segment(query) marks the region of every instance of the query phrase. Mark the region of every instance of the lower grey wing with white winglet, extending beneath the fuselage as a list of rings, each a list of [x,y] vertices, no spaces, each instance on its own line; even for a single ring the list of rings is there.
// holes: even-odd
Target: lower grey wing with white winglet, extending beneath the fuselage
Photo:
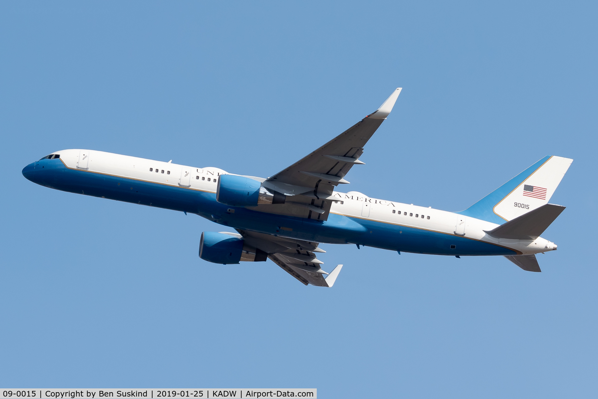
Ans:
[[[324,262],[319,260],[315,254],[316,252],[325,252],[318,248],[319,243],[248,230],[237,229],[237,231],[242,235],[245,243],[268,253],[272,262],[306,286],[312,284],[312,286],[332,287],[343,267],[343,265],[337,265],[330,274],[322,270],[320,266]]]

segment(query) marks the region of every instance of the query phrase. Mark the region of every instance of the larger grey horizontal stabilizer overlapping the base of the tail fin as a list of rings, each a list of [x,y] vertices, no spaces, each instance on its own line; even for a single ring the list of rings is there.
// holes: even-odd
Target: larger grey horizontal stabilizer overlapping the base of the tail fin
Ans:
[[[497,228],[486,231],[495,238],[508,238],[511,240],[535,240],[554,222],[561,212],[565,210],[562,205],[546,204],[529,211],[515,219],[509,220]],[[514,262],[514,261],[513,261]]]

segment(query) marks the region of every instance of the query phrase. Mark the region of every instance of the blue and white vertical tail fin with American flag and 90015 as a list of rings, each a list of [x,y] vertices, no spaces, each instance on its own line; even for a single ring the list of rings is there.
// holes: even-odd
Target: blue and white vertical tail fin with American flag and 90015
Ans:
[[[502,225],[548,204],[573,159],[545,156],[464,211],[456,212]]]

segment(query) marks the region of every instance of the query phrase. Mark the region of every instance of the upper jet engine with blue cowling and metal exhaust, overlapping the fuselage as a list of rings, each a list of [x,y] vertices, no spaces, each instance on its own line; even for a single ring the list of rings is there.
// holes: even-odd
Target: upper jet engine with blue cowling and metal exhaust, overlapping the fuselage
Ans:
[[[249,177],[221,174],[216,188],[216,201],[231,207],[255,207],[258,204],[284,204],[285,195],[270,192]]]

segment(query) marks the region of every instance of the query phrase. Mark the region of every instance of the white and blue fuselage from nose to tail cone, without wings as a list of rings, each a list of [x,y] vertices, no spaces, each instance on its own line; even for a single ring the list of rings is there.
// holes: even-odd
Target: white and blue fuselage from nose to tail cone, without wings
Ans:
[[[80,149],[52,155],[27,165],[23,176],[53,189],[194,213],[230,228],[276,237],[451,256],[512,256],[556,249],[541,237],[495,238],[487,232],[506,219],[495,219],[499,223],[494,223],[484,220],[490,218],[469,216],[468,211],[453,213],[370,198],[360,192],[334,191],[328,219],[306,219],[221,204],[216,201],[216,188],[219,177],[227,172],[219,168]],[[530,168],[537,170],[546,159]],[[531,173],[524,171],[512,185],[520,184]],[[517,208],[517,204],[515,201],[511,206]]]

